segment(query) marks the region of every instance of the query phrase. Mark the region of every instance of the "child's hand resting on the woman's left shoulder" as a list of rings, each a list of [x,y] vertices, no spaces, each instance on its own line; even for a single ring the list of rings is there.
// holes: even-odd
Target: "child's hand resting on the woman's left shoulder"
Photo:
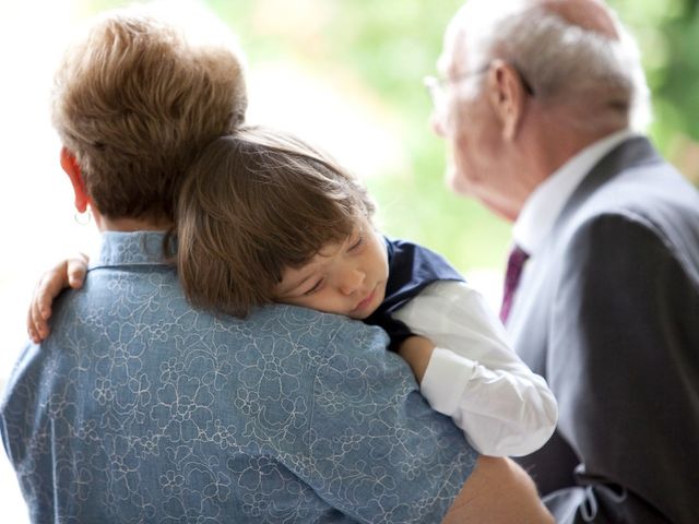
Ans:
[[[26,330],[29,338],[38,344],[48,336],[48,319],[51,317],[54,299],[67,287],[78,289],[82,287],[87,273],[88,258],[78,253],[76,257],[66,259],[51,270],[44,273],[34,288],[32,303],[26,317]]]

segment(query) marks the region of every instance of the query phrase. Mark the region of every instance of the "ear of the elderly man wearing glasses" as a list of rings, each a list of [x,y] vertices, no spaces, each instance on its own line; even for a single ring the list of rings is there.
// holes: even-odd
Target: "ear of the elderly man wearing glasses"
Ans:
[[[517,69],[500,59],[490,64],[488,87],[490,105],[502,127],[502,135],[506,140],[512,140],[524,114],[526,88]]]

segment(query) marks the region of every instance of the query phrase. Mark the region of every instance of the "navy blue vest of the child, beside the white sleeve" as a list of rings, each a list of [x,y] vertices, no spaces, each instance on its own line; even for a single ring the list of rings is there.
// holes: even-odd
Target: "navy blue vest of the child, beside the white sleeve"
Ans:
[[[390,314],[398,311],[425,287],[436,281],[464,278],[440,254],[404,240],[384,238],[389,253],[389,279],[381,306],[364,321],[379,325],[391,337],[389,349],[396,350],[401,342],[412,335],[407,326]]]

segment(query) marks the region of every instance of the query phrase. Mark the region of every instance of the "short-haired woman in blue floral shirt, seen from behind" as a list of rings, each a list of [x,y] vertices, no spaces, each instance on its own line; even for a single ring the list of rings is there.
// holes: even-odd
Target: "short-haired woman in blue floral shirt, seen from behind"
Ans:
[[[33,522],[548,522],[521,467],[478,456],[429,408],[381,330],[187,302],[174,200],[246,102],[236,52],[141,8],[67,52],[61,167],[103,243],[0,405]]]

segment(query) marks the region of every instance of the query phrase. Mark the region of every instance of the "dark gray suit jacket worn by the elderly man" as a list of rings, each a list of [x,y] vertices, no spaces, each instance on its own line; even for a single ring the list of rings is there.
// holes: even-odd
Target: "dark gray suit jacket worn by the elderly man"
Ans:
[[[558,428],[519,461],[559,523],[699,523],[699,194],[643,138],[528,262],[507,323]]]

